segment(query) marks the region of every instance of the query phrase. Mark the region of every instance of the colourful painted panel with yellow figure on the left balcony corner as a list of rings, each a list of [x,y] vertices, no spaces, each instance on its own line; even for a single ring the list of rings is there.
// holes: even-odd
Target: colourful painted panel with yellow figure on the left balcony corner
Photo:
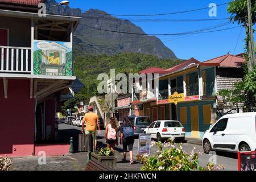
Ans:
[[[72,43],[34,40],[34,75],[72,76]]]

